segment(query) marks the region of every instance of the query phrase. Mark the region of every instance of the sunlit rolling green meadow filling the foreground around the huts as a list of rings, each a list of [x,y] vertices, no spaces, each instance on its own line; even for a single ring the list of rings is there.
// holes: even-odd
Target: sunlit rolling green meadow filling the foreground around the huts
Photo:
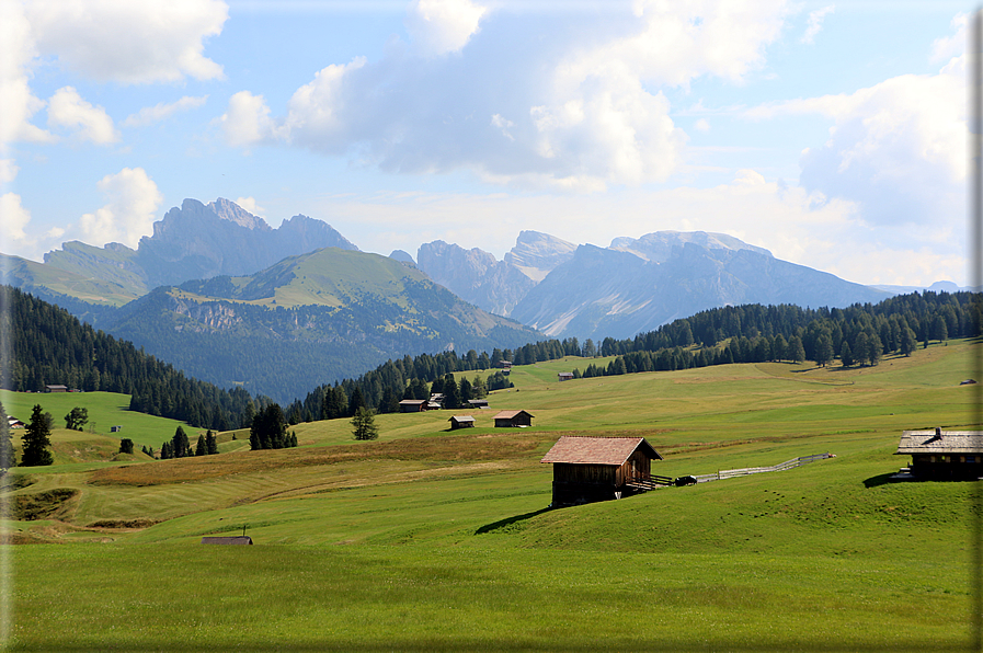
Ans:
[[[981,428],[979,348],[560,383],[599,363],[570,358],[515,368],[472,429],[434,411],[368,443],[335,420],[272,452],[239,432],[201,459],[56,456],[3,494],[0,626],[12,651],[969,650],[979,483],[889,477],[903,429]],[[504,409],[533,426],[493,428]],[[835,458],[549,509],[564,434],[643,436],[668,477]]]

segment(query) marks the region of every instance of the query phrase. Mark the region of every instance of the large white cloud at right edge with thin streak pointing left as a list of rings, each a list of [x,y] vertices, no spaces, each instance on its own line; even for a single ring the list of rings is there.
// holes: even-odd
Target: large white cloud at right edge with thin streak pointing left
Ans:
[[[802,154],[803,186],[859,203],[871,224],[931,221],[951,230],[964,219],[967,101],[960,68],[759,106],[746,115],[832,118],[830,139]]]

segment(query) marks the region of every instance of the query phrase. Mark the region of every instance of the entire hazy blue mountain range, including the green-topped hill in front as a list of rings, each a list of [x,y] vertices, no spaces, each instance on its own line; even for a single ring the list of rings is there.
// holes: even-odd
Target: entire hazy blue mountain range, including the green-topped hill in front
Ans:
[[[44,263],[0,256],[3,283],[202,380],[281,401],[407,354],[624,339],[725,305],[845,307],[902,291],[701,231],[607,248],[522,231],[501,261],[438,240],[414,262],[363,253],[302,215],[273,229],[222,198],[185,199],[136,250],[73,241]]]

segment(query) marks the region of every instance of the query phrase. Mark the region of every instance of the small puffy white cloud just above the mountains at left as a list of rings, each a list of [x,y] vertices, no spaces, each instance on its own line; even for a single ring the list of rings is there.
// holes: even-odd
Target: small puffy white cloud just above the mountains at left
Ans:
[[[78,228],[90,244],[122,242],[136,248],[153,232],[153,220],[163,196],[142,168],[124,168],[96,184],[106,204],[79,218]]]

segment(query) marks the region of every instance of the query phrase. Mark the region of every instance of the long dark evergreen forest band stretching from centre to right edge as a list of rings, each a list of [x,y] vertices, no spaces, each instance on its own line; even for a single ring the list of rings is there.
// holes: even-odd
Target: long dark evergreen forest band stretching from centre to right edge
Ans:
[[[441,381],[453,373],[484,371],[503,360],[529,365],[563,356],[616,358],[607,365],[587,365],[574,378],[675,370],[729,363],[766,360],[815,360],[826,365],[841,357],[845,365],[877,365],[892,353],[910,355],[918,342],[967,337],[981,332],[980,295],[971,293],[914,293],[885,299],[877,305],[848,308],[800,308],[791,305],[744,305],[701,311],[675,320],[633,339],[605,337],[599,343],[576,337],[544,340],[516,350],[495,348],[491,355],[471,350],[403,356],[388,360],[357,379],[325,385],[297,400],[287,409],[289,422],[352,417],[365,406],[377,412],[398,411],[400,399],[427,399],[441,392]],[[450,377],[453,379],[453,377]],[[485,390],[511,386],[496,370],[487,379]],[[430,387],[436,383],[437,389]],[[458,389],[459,390],[459,389]],[[445,406],[457,408],[446,402]],[[460,400],[458,405],[466,404]]]

